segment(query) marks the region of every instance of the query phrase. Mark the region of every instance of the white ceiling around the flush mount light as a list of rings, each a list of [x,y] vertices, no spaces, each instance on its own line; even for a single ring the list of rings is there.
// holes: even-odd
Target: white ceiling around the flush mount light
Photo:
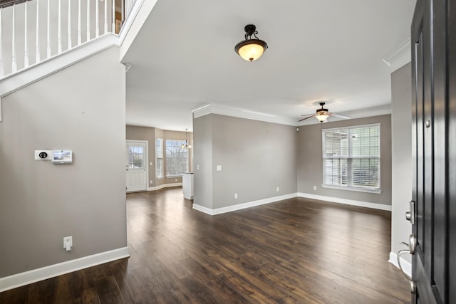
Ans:
[[[415,0],[158,0],[123,63],[127,124],[192,130],[207,104],[297,121],[319,100],[351,115],[388,108],[382,58],[410,36]],[[234,46],[257,26],[269,48],[244,61]],[[315,120],[316,121],[316,120]]]

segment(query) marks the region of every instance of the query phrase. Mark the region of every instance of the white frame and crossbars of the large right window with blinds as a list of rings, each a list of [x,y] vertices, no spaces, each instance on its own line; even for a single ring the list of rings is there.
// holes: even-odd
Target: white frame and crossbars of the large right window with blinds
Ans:
[[[359,128],[364,128],[364,127],[378,127],[378,156],[368,156],[368,157],[353,157],[352,155],[352,142],[351,140],[348,140],[348,154],[347,156],[338,156],[338,157],[330,157],[326,155],[326,142],[325,142],[325,133],[326,132],[331,132],[331,131],[348,131],[348,134],[351,134],[351,130],[353,129],[359,129]],[[381,152],[381,128],[380,128],[380,123],[375,123],[375,124],[369,124],[369,125],[354,125],[350,127],[333,127],[330,129],[323,129],[321,130],[321,155],[322,155],[322,167],[321,167],[321,172],[322,172],[322,183],[321,187],[323,188],[330,188],[330,189],[342,189],[342,190],[349,190],[349,191],[356,191],[356,192],[369,192],[369,193],[375,193],[379,194],[381,193],[381,188],[380,188],[380,152]],[[368,159],[378,159],[378,187],[356,187],[351,184],[351,175],[352,175],[352,167],[351,167],[351,160],[352,159],[360,159],[360,158],[368,158]],[[341,185],[331,185],[331,184],[325,184],[325,161],[326,159],[347,159],[347,185],[346,186],[341,186]]]

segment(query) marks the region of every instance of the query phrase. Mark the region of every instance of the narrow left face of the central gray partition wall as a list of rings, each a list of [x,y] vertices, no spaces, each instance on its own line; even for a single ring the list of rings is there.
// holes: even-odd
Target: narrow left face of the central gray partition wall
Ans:
[[[193,119],[193,203],[214,209],[212,181],[212,115]]]

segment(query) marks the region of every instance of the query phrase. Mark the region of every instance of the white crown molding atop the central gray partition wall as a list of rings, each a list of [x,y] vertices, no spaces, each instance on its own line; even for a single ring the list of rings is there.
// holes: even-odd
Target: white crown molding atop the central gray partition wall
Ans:
[[[271,115],[252,110],[233,108],[227,105],[209,104],[204,105],[201,108],[192,110],[193,118],[202,117],[208,114],[219,114],[232,117],[246,118],[248,120],[260,120],[264,122],[273,122],[280,125],[292,125],[296,126],[296,120],[289,117],[283,117],[278,115]]]

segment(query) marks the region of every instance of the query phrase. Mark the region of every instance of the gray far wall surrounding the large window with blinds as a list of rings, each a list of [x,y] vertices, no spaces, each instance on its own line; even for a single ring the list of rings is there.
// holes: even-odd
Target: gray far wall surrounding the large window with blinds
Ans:
[[[348,190],[328,189],[322,184],[322,152],[321,129],[346,127],[351,125],[367,125],[380,123],[380,194],[354,192]],[[326,122],[318,125],[299,127],[298,147],[298,192],[322,196],[366,201],[374,204],[391,204],[391,116],[380,115]],[[314,191],[314,186],[317,190]]]

